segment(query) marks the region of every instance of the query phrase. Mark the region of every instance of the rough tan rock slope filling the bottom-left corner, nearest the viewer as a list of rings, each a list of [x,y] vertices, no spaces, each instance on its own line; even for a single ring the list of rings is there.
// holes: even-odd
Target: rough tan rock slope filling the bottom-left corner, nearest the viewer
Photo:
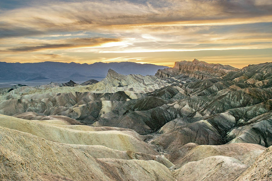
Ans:
[[[0,126],[3,181],[175,180],[167,167],[154,160],[96,159],[92,153],[92,148],[83,151],[80,145],[56,143]]]

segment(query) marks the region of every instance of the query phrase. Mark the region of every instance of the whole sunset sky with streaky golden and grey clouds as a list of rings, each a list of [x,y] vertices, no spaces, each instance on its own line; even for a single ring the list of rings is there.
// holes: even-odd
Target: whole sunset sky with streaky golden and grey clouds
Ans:
[[[272,62],[271,0],[1,0],[1,62]]]

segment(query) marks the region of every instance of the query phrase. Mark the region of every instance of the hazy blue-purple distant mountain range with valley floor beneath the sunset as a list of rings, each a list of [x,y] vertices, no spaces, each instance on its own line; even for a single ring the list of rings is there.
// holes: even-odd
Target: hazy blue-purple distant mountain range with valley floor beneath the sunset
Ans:
[[[39,63],[7,63],[0,62],[0,81],[54,81],[66,82],[102,80],[108,69],[113,69],[123,75],[141,74],[154,75],[158,69],[166,66],[139,64],[135,62],[96,62],[93,64],[39,62]]]

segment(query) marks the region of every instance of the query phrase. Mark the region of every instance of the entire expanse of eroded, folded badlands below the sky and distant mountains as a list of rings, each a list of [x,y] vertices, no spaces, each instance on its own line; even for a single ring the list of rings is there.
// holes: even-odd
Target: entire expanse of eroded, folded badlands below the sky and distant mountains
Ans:
[[[0,180],[272,180],[271,62],[0,95]]]

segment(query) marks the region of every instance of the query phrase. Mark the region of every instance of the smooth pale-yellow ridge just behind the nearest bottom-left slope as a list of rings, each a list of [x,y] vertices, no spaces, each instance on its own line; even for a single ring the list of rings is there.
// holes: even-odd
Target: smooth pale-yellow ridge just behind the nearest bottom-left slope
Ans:
[[[143,141],[144,138],[132,130],[82,131],[50,123],[54,120],[50,120],[50,122],[47,120],[49,123],[40,123],[40,121],[28,121],[1,115],[0,119],[0,126],[31,133],[50,141],[67,144],[103,145],[120,151],[131,150],[148,154],[158,153],[153,145],[145,143]]]

